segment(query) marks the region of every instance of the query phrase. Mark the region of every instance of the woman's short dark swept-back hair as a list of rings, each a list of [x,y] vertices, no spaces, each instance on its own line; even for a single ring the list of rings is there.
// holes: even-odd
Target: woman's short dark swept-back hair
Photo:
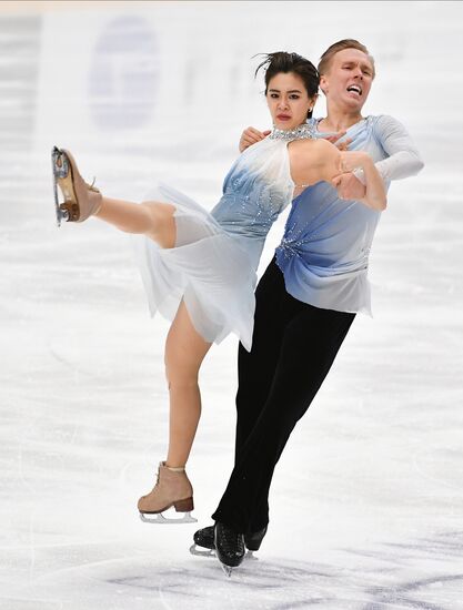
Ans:
[[[254,77],[259,70],[264,70],[265,79],[265,95],[269,89],[269,82],[280,72],[293,72],[304,83],[309,98],[313,98],[319,92],[320,74],[311,61],[298,55],[298,53],[286,53],[285,51],[276,51],[275,53],[264,54],[264,60],[255,70]],[[312,116],[312,112],[308,113],[308,119]]]

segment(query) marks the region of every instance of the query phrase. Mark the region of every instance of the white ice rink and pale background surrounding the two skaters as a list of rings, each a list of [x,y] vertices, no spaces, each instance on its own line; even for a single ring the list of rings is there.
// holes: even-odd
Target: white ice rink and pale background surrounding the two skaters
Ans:
[[[462,4],[2,4],[0,609],[463,608]],[[259,561],[227,579],[189,555],[194,525],[138,518],[165,451],[167,323],[124,235],[56,227],[49,151],[108,194],[138,201],[161,176],[211,207],[241,130],[269,124],[251,55],[316,60],[345,37],[376,57],[366,113],[402,120],[426,167],[391,189],[374,319],[276,468]],[[200,527],[233,459],[235,349],[202,370]]]

